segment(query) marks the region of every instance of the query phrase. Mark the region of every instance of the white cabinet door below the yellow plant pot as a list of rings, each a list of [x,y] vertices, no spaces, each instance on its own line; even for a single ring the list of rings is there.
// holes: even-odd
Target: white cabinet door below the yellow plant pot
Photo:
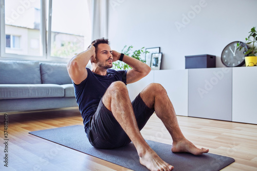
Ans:
[[[232,121],[257,124],[257,67],[233,68]]]

